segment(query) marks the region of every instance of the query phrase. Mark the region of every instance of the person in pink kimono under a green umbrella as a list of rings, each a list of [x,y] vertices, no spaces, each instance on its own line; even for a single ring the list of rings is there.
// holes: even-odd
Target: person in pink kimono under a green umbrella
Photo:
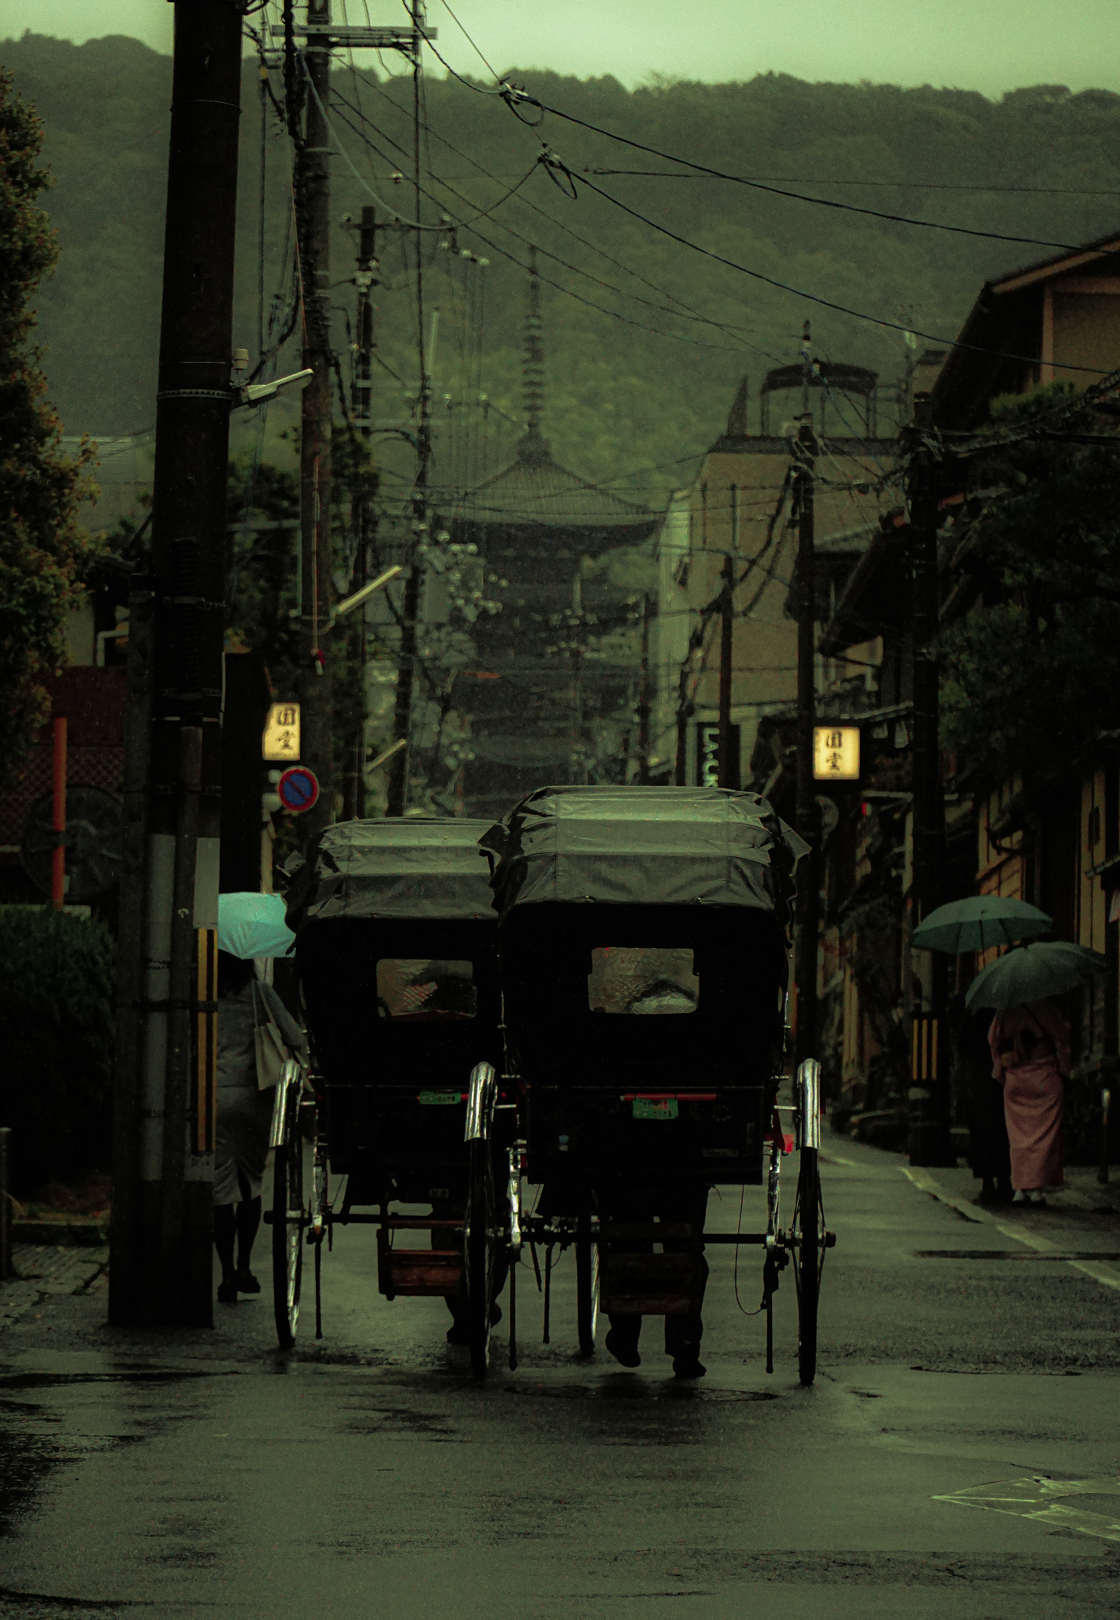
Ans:
[[[1063,1184],[1062,1081],[1070,1077],[1070,1025],[1052,1001],[997,1013],[987,1032],[992,1079],[1003,1087],[1015,1204],[1046,1204]]]

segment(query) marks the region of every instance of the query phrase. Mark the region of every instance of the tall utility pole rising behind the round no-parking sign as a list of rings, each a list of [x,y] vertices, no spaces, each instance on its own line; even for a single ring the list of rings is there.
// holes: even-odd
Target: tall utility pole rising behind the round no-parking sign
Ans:
[[[319,779],[304,812],[314,838],[333,821],[332,676],[324,642],[332,606],[330,541],[330,0],[308,0],[308,117],[296,170],[299,262],[304,296],[299,423],[299,729],[301,760]]]

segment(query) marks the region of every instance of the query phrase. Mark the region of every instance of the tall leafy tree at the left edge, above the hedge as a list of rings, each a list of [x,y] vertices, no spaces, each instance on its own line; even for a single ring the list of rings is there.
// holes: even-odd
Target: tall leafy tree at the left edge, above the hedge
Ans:
[[[78,525],[95,488],[92,446],[62,454],[31,298],[58,258],[36,167],[42,123],[0,68],[0,748],[19,755],[50,713],[44,680],[65,659],[66,611],[99,543]]]

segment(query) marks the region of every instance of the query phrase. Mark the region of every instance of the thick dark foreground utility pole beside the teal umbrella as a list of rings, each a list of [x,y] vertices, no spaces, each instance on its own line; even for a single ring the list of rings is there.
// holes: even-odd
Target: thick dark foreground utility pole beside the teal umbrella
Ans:
[[[152,590],[136,582],[129,633],[110,1267],[117,1325],[214,1322],[214,930],[240,96],[240,8],[178,0]]]

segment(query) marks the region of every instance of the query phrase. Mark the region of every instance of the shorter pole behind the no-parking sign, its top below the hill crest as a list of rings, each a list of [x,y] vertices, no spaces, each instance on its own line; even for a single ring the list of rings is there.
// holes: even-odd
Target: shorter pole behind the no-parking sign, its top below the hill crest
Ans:
[[[364,460],[354,468],[354,497],[351,502],[351,523],[356,531],[354,577],[351,590],[359,591],[369,580],[369,549],[372,544],[374,514],[369,502],[369,446],[372,441],[372,387],[374,387],[374,303],[371,288],[374,284],[375,259],[375,225],[377,219],[372,206],[361,211],[361,228],[358,232],[358,321],[356,321],[356,364],[353,415],[363,446]],[[346,739],[346,779],[343,787],[343,818],[353,821],[366,813],[366,612],[354,619],[350,653],[358,671],[358,716],[354,729]]]

